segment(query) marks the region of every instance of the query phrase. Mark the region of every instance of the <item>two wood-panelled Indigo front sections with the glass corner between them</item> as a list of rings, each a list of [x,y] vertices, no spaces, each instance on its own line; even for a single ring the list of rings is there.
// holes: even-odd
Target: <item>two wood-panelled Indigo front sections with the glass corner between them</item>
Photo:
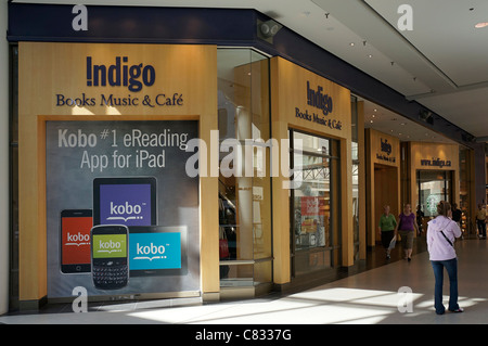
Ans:
[[[347,89],[216,46],[20,42],[18,72],[24,307],[255,296],[354,264]]]

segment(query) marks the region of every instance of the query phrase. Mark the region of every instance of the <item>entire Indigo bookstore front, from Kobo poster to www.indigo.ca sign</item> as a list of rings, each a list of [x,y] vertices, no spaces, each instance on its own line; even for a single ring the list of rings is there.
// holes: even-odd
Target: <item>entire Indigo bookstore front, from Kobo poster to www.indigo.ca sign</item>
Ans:
[[[69,7],[9,9],[15,23],[36,11],[72,16]],[[98,30],[11,30],[21,309],[70,302],[76,287],[92,300],[218,300],[307,286],[365,259],[384,204],[394,214],[426,204],[427,189],[459,200],[457,145],[364,132],[350,66],[288,29],[282,46],[256,38],[265,15],[151,9],[149,25],[147,9],[117,8],[130,21],[114,34],[104,9],[91,12]],[[189,30],[171,36],[177,18]],[[297,42],[304,51],[286,51]],[[426,177],[434,170],[442,187]],[[113,264],[117,280],[100,278]]]

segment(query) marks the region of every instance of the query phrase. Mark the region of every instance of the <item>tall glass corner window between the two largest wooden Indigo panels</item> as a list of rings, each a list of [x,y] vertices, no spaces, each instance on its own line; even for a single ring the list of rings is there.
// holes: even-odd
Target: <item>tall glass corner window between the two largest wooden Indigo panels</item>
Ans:
[[[272,282],[269,60],[252,49],[218,49],[219,239],[222,287]],[[244,159],[239,161],[241,151]],[[245,152],[253,153],[245,159]],[[234,161],[229,163],[229,155]],[[253,172],[252,177],[241,172]],[[252,167],[249,167],[252,166]]]

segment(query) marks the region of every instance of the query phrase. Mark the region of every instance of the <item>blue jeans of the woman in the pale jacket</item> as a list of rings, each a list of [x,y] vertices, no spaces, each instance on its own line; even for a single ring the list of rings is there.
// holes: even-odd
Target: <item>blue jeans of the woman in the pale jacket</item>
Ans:
[[[434,307],[436,313],[442,315],[446,308],[442,305],[442,285],[444,285],[444,268],[449,275],[449,310],[459,309],[458,305],[458,258],[448,260],[431,260],[436,278],[436,286],[434,293]]]

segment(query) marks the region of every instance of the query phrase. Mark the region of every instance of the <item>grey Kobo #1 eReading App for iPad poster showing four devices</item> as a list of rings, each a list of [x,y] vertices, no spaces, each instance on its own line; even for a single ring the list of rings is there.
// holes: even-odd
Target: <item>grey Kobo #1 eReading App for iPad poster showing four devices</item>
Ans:
[[[46,123],[48,298],[200,294],[197,137],[195,120]]]

